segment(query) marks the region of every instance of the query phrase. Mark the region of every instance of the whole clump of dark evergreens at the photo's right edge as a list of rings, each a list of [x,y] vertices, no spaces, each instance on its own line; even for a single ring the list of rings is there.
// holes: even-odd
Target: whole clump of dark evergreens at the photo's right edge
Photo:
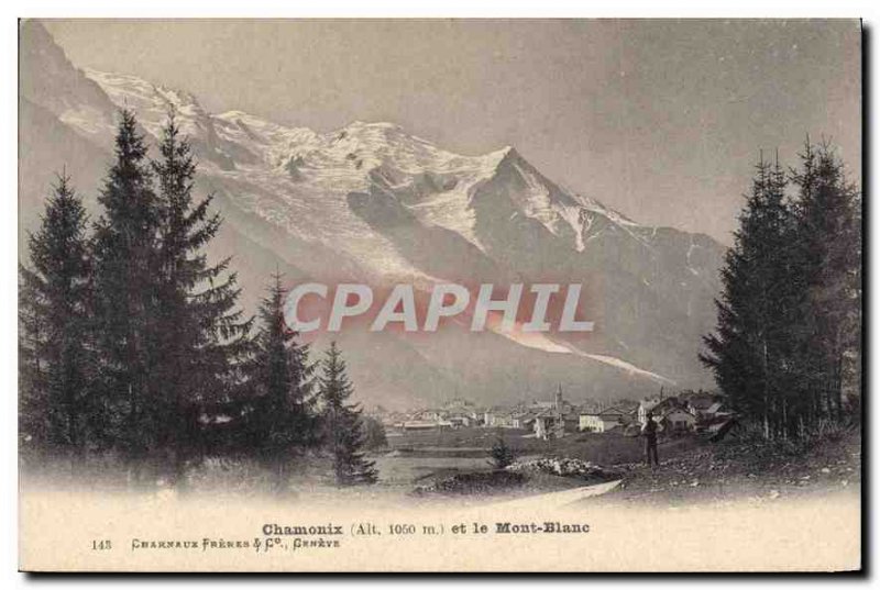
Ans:
[[[759,164],[701,355],[767,437],[839,419],[847,375],[860,388],[860,196],[831,148],[809,140],[790,177],[794,199],[779,164]]]

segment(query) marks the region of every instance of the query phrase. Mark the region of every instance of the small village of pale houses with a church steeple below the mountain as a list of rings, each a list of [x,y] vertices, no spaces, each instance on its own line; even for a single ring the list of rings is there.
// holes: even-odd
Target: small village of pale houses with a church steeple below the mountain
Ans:
[[[378,407],[370,413],[382,422],[389,436],[419,431],[505,428],[520,431],[524,438],[541,441],[578,433],[638,436],[649,413],[664,436],[717,434],[734,419],[724,396],[702,390],[670,394],[661,388],[657,396],[638,401],[584,399],[575,403],[564,398],[561,386],[549,400],[512,405],[481,408],[455,397],[439,408],[395,412]]]

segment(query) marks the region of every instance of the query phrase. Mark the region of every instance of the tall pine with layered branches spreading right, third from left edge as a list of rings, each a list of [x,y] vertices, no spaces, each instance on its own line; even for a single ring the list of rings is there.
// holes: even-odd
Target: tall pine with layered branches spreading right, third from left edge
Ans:
[[[168,113],[153,163],[158,186],[160,271],[151,410],[162,426],[160,444],[170,452],[182,482],[194,441],[186,416],[194,403],[228,400],[239,385],[251,320],[237,308],[240,289],[229,258],[210,265],[205,248],[221,225],[210,213],[213,197],[193,198],[196,164],[175,112]]]

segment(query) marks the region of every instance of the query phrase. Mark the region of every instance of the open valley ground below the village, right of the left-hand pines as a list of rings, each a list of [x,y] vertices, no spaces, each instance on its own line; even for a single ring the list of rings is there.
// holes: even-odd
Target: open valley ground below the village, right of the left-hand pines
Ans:
[[[835,492],[857,497],[860,492],[861,432],[857,428],[799,444],[734,435],[710,443],[682,436],[660,442],[661,463],[653,469],[644,461],[642,438],[613,433],[572,434],[557,441],[528,438],[520,431],[509,430],[407,433],[389,437],[393,450],[378,457],[383,480],[430,486],[433,481],[488,471],[487,449],[499,436],[515,449],[519,461],[539,457],[588,461],[606,471],[608,479],[620,480],[613,491],[584,500],[591,505],[771,502]],[[593,482],[544,474],[530,478],[521,492],[550,493]],[[457,498],[463,496],[466,493]]]

